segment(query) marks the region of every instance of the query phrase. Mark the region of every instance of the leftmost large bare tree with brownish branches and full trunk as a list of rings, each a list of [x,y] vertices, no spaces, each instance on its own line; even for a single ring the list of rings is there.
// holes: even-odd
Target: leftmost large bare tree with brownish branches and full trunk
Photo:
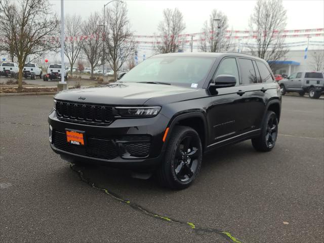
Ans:
[[[50,41],[47,36],[58,32],[58,25],[48,0],[21,0],[18,5],[13,1],[0,0],[0,36],[4,39],[0,42],[0,50],[18,59],[19,89],[22,88],[22,70],[27,56],[43,55],[57,48],[56,39]],[[11,31],[10,37],[6,28]]]

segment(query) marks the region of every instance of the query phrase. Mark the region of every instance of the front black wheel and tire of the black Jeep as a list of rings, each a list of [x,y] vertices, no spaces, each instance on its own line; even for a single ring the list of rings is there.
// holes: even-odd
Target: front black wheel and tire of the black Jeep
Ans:
[[[198,133],[189,127],[176,126],[170,134],[165,159],[157,170],[160,185],[184,189],[197,177],[203,148]]]

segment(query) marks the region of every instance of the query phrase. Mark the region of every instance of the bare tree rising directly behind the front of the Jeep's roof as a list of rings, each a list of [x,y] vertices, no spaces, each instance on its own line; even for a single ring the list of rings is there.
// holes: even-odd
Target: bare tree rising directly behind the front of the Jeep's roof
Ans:
[[[179,36],[186,28],[182,13],[175,8],[163,10],[163,21],[158,25],[158,32],[162,36],[158,39],[155,51],[158,53],[178,52],[182,39]]]

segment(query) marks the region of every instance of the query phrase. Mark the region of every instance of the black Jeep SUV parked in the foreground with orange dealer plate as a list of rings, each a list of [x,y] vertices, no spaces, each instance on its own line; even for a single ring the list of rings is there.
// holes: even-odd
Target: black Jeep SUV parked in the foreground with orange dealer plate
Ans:
[[[161,54],[115,83],[58,93],[49,136],[72,163],[150,170],[181,189],[197,177],[208,150],[247,139],[271,150],[280,110],[280,88],[260,58]]]

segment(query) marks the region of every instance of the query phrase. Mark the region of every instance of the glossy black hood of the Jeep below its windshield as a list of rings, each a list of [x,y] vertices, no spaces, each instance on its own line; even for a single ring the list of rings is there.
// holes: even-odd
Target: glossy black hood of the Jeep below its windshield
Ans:
[[[172,102],[166,98],[183,97],[182,94],[185,93],[197,93],[197,90],[173,85],[112,83],[98,87],[62,91],[56,94],[54,98],[82,103],[143,105],[154,98],[163,98],[162,100]],[[185,96],[188,98],[187,95]],[[198,94],[193,96],[198,96]]]

